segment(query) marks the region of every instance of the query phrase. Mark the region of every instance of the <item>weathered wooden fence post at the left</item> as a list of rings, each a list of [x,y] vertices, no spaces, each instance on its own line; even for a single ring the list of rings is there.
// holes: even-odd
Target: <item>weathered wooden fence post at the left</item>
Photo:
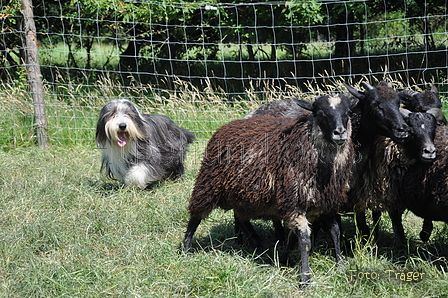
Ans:
[[[34,23],[31,0],[22,0],[22,14],[25,35],[25,65],[33,96],[37,142],[39,147],[44,148],[48,146],[48,124],[45,114],[42,74],[37,53],[36,24]]]

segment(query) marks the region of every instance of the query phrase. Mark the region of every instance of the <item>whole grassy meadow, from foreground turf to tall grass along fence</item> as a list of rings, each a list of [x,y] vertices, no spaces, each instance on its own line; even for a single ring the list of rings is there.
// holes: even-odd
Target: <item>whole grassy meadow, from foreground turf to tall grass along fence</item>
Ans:
[[[181,83],[179,83],[181,84]],[[110,84],[105,84],[110,85]],[[215,210],[181,251],[186,210],[205,144],[222,124],[262,103],[254,94],[226,104],[188,84],[179,94],[145,97],[129,91],[144,112],[165,114],[196,132],[186,173],[140,190],[100,173],[94,142],[100,107],[130,93],[66,89],[47,100],[50,147],[32,137],[29,94],[3,86],[0,97],[0,297],[446,297],[448,231],[436,223],[428,243],[422,220],[404,215],[405,257],[383,215],[379,239],[361,239],[343,216],[344,267],[337,267],[325,233],[314,239],[312,284],[300,287],[299,255],[279,264],[282,244],[270,223],[256,221],[264,251],[235,239],[233,214]],[[202,90],[201,90],[202,91]],[[273,90],[263,100],[279,95]],[[319,92],[320,90],[311,90]],[[139,93],[141,92],[141,93]],[[145,92],[148,92],[146,90]],[[287,97],[299,92],[285,91]],[[57,94],[57,95],[56,95]]]

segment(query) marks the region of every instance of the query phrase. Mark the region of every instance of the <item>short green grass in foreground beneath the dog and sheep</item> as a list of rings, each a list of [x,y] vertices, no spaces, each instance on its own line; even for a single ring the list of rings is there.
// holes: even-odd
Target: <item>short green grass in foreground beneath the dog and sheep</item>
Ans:
[[[186,174],[152,189],[122,188],[99,173],[86,147],[18,148],[0,153],[0,297],[443,297],[448,237],[417,239],[421,220],[407,214],[411,257],[400,257],[384,217],[378,247],[363,244],[344,218],[345,262],[338,268],[322,234],[310,258],[312,285],[299,287],[299,265],[281,267],[273,231],[256,222],[267,251],[253,256],[234,238],[231,212],[216,210],[180,243],[204,144],[195,143]],[[298,254],[291,258],[298,260]],[[360,272],[376,274],[375,280]],[[423,274],[402,281],[395,273]],[[353,274],[356,273],[356,276]],[[391,275],[390,275],[390,274]]]

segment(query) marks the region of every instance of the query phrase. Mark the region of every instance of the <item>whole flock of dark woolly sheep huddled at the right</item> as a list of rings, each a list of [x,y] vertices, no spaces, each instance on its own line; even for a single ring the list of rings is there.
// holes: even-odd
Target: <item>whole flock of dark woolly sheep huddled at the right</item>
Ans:
[[[310,224],[330,231],[342,263],[340,213],[356,212],[360,231],[369,234],[366,210],[375,220],[387,211],[403,244],[406,209],[424,218],[424,241],[433,220],[448,222],[448,131],[437,90],[361,85],[345,84],[349,93],[314,102],[275,101],[218,129],[189,202],[184,250],[212,210],[233,209],[235,231],[254,249],[262,240],[250,220],[273,221],[279,239],[284,224],[281,260],[298,243],[307,283]]]

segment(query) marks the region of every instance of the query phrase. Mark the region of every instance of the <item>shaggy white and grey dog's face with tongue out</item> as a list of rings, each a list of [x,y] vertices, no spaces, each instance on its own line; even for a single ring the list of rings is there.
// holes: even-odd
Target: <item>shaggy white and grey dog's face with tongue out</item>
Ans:
[[[96,140],[99,146],[109,140],[112,145],[125,147],[131,141],[143,138],[144,132],[140,129],[143,126],[143,117],[132,102],[113,100],[100,112]]]

